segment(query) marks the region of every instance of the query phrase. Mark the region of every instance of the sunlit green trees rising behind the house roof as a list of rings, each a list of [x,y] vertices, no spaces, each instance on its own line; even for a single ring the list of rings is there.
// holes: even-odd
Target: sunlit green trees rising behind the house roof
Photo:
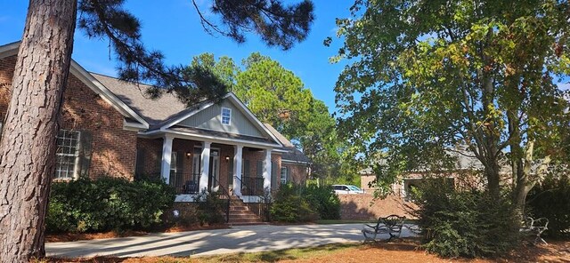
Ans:
[[[346,145],[338,139],[336,122],[324,102],[314,99],[293,72],[259,52],[251,53],[241,65],[203,53],[194,57],[191,68],[213,72],[262,122],[296,142],[311,158],[314,178],[335,181],[345,176],[352,181],[356,166],[346,163]]]

